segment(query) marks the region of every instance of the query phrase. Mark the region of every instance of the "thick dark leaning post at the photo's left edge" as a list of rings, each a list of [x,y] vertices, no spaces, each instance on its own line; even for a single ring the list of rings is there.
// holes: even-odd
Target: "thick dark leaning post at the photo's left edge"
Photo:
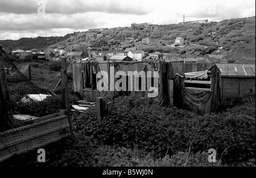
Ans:
[[[0,45],[0,128],[9,129],[13,124],[9,86],[6,80],[5,66],[3,63],[2,47]],[[1,130],[1,129],[0,129]]]

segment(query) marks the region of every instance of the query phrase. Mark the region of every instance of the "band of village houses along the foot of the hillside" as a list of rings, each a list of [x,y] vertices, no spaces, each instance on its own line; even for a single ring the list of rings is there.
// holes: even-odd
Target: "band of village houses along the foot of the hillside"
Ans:
[[[113,59],[113,60],[164,60],[167,62],[177,63],[197,63],[197,64],[255,64],[255,57],[237,60],[234,55],[204,55],[203,57],[195,55],[180,55],[179,53],[148,53],[137,48],[126,48],[124,51],[81,51],[81,52],[66,52],[64,49],[55,49],[49,52],[32,52],[16,50],[11,52],[13,55],[19,56],[19,59],[46,59],[55,60],[60,56],[66,56],[69,59],[96,59],[98,61]],[[123,57],[119,57],[123,56]],[[128,56],[128,57],[125,57]]]

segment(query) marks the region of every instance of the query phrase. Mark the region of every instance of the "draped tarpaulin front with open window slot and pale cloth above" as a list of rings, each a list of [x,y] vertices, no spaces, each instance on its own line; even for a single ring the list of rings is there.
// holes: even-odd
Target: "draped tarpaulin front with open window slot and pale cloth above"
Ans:
[[[190,80],[192,78],[194,80]],[[197,78],[209,78],[209,80],[195,80]],[[186,81],[189,82],[190,87],[186,87]],[[216,65],[207,71],[177,74],[175,85],[182,91],[180,92],[181,107],[199,114],[211,113],[216,110],[220,101],[220,82],[221,72]],[[204,88],[203,85],[210,86]]]

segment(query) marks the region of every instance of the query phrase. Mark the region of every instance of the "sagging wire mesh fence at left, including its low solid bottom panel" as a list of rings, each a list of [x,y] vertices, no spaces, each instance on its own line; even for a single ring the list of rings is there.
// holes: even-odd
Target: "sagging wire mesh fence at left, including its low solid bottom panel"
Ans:
[[[0,126],[1,163],[14,155],[56,142],[71,134],[72,129],[68,113],[60,111],[64,109],[63,98],[57,95],[61,93],[61,72],[41,70],[41,73],[35,66],[31,67],[31,64],[15,64],[1,46],[0,50],[9,88],[12,119],[15,121],[6,122],[11,129],[2,130]],[[43,65],[46,67],[47,64]],[[68,77],[72,77],[71,65],[68,65],[67,73]],[[54,102],[43,103],[51,100]],[[31,113],[22,114],[24,111]],[[44,117],[40,116],[42,111]]]

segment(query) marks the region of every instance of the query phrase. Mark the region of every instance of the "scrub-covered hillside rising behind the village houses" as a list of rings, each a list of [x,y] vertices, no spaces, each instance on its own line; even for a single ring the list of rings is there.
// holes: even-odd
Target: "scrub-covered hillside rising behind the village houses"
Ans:
[[[209,32],[213,34],[208,34]],[[103,30],[101,34],[104,36],[97,38],[97,33],[74,32],[63,37],[0,40],[0,44],[6,49],[83,50],[93,47],[96,50],[122,50],[135,46],[146,52],[180,52],[181,50],[168,45],[174,43],[177,36],[181,36],[185,40],[184,50],[187,53],[197,55],[234,53],[237,57],[255,57],[255,16],[222,20],[218,23],[167,24],[147,27],[143,30],[118,27]],[[143,38],[150,39],[150,44],[141,44],[139,41]],[[133,39],[138,40],[134,42]]]

